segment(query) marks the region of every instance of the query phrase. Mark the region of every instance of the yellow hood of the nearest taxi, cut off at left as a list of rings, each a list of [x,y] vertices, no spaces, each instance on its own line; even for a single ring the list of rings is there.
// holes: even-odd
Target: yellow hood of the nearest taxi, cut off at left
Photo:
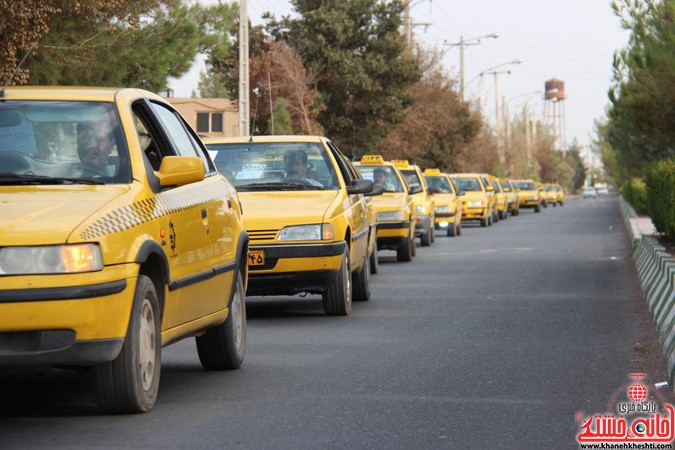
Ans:
[[[126,185],[0,188],[0,246],[63,244]]]

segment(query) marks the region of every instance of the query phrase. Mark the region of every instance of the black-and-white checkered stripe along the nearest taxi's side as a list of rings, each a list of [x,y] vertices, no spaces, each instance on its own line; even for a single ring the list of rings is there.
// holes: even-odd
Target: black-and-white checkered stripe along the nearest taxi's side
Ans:
[[[198,208],[213,200],[223,198],[227,192],[229,192],[227,183],[221,179],[206,184],[199,183],[197,186],[160,192],[154,197],[109,212],[80,233],[80,238],[94,240],[128,230],[168,214]]]

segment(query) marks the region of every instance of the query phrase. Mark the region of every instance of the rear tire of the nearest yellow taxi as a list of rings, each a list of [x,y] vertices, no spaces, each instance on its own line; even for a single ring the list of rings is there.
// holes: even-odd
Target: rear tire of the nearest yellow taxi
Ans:
[[[238,369],[246,350],[246,305],[244,279],[237,273],[237,283],[227,320],[197,336],[197,353],[206,370]]]

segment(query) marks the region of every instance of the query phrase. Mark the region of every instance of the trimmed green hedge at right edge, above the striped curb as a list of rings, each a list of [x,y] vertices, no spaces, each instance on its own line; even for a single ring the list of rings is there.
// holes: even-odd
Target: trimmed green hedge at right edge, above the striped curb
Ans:
[[[649,217],[659,231],[675,239],[675,158],[647,165],[644,179]]]

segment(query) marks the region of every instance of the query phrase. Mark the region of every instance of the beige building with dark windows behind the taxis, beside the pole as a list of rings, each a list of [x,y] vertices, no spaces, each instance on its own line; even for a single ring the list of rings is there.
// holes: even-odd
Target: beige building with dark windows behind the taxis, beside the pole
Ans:
[[[237,102],[225,98],[166,99],[202,137],[239,135]]]

